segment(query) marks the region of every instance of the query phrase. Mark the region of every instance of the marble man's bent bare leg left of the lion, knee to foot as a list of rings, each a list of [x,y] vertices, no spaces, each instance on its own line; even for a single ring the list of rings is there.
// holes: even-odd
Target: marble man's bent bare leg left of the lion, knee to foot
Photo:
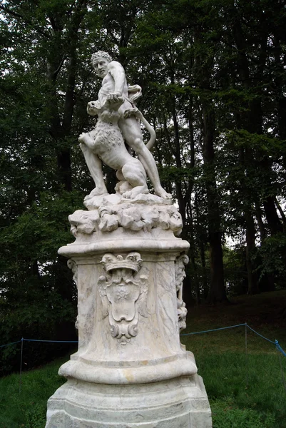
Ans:
[[[108,194],[106,184],[103,180],[103,173],[101,167],[101,160],[94,154],[90,148],[86,145],[86,138],[91,138],[88,134],[81,134],[78,141],[80,142],[81,151],[86,160],[86,165],[88,165],[88,170],[91,173],[91,177],[96,185],[96,188],[92,190],[90,195],[86,198],[96,196],[96,195],[105,195]]]

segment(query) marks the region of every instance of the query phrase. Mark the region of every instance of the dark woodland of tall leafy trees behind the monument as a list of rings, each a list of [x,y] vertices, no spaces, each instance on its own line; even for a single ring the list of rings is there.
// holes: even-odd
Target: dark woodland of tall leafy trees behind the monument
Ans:
[[[76,286],[57,250],[93,188],[78,135],[93,126],[99,49],[143,88],[190,243],[188,305],[286,287],[284,0],[6,0],[0,11],[0,345],[76,338]],[[59,352],[31,346],[31,365]],[[12,370],[16,350],[0,362]]]

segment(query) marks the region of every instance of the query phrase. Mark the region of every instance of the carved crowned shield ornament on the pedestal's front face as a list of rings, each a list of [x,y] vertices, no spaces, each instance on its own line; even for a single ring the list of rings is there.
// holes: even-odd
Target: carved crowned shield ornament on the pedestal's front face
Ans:
[[[148,317],[148,276],[138,273],[142,261],[136,252],[125,257],[107,253],[101,260],[106,271],[106,275],[98,279],[103,319],[108,316],[111,336],[121,345],[138,335],[138,315]]]

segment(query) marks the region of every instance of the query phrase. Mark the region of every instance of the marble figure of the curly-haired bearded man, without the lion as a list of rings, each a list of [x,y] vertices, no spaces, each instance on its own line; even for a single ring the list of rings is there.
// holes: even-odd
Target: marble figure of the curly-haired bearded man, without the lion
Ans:
[[[101,89],[98,92],[98,100],[88,103],[88,114],[95,116],[102,111],[104,106],[109,106],[109,109],[118,111],[118,127],[128,146],[138,155],[139,161],[143,165],[144,170],[150,178],[154,192],[156,195],[164,199],[169,199],[171,196],[165,192],[160,185],[155,160],[148,150],[148,147],[143,143],[140,122],[137,120],[136,111],[138,111],[133,101],[131,101],[130,93],[126,82],[126,75],[123,66],[118,61],[113,61],[107,52],[98,51],[91,57],[91,63],[96,71],[96,74],[103,79]],[[139,86],[129,87],[136,90]],[[138,90],[138,89],[137,89]],[[140,96],[140,94],[137,94]],[[133,99],[136,95],[133,96]],[[100,113],[99,113],[100,114]],[[100,116],[99,116],[100,117]],[[93,195],[103,195],[107,193],[106,185],[103,181],[101,170],[101,161],[94,153],[91,153],[91,145],[84,144],[85,139],[80,138],[81,149],[86,158],[86,163],[93,179],[96,181],[96,189]],[[104,160],[103,160],[104,161]]]

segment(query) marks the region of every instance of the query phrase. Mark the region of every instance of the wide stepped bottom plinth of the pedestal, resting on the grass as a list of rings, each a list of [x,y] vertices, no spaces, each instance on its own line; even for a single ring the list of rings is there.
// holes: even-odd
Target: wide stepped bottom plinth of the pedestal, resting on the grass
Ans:
[[[198,374],[149,384],[68,379],[48,400],[46,428],[211,428]]]

